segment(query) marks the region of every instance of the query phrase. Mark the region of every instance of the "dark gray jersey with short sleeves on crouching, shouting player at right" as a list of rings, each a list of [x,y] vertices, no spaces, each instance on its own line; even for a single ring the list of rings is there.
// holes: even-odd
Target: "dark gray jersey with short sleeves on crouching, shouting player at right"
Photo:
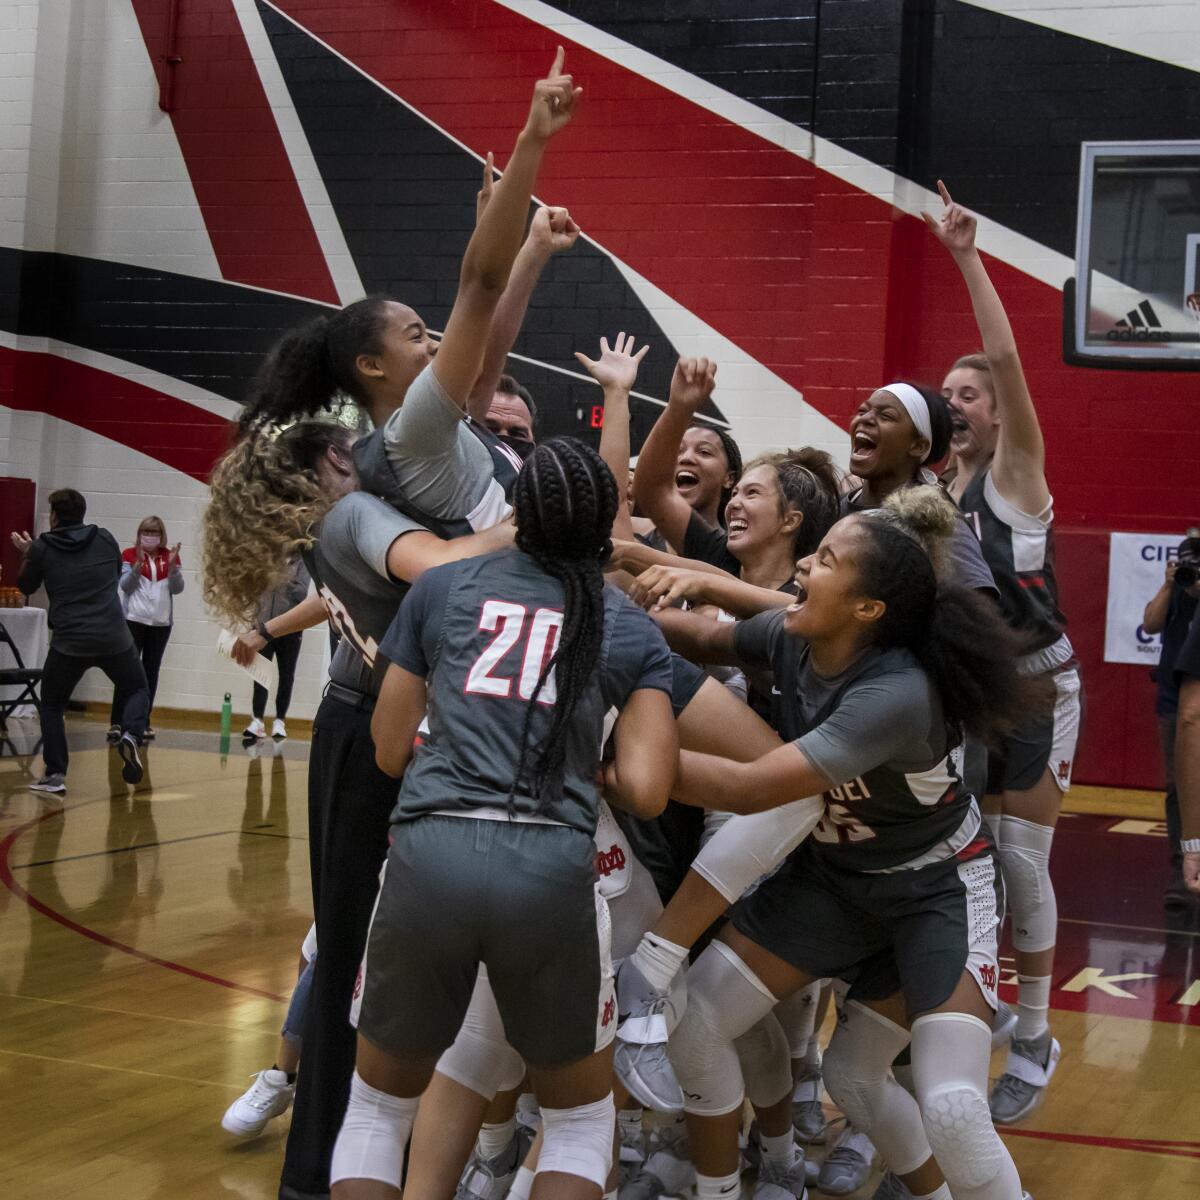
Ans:
[[[737,654],[770,666],[781,737],[829,784],[816,847],[848,868],[886,871],[958,853],[978,810],[949,758],[959,738],[929,676],[904,649],[868,650],[832,679],[809,646],[784,629],[786,613],[742,622]]]

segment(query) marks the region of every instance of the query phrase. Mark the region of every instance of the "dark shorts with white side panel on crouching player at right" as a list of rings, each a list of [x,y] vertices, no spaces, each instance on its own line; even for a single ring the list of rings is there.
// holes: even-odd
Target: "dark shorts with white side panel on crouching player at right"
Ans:
[[[910,1018],[946,1003],[970,971],[996,1007],[1003,892],[983,827],[959,856],[911,871],[841,868],[804,842],[733,910],[733,926],[848,998],[902,992]]]

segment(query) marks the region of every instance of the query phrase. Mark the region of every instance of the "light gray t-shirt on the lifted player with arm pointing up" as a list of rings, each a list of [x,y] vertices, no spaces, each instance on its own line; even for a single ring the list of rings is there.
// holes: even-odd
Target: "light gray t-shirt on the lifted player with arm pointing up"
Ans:
[[[511,512],[496,481],[492,456],[463,420],[430,364],[404,403],[388,418],[383,438],[395,482],[414,508],[440,520],[468,518],[487,529]]]

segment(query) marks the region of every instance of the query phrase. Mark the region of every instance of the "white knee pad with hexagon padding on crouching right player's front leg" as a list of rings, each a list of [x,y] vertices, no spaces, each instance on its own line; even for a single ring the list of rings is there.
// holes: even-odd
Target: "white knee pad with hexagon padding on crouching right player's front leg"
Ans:
[[[966,1013],[930,1013],[912,1025],[912,1074],[929,1144],[955,1196],[1021,1194],[1016,1168],[988,1109],[991,1028]]]

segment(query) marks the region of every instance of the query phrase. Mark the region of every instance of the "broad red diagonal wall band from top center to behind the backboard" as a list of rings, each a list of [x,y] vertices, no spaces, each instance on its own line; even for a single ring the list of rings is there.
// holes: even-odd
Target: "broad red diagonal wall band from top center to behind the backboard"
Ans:
[[[559,40],[488,0],[277,7],[502,161]],[[978,347],[961,277],[920,222],[590,50],[569,44],[568,68],[583,107],[546,156],[541,197],[818,410],[842,424],[889,378],[940,383]],[[985,196],[959,198],[986,211]],[[1160,529],[1200,510],[1200,427],[1178,421],[1181,397],[1200,404],[1196,378],[1066,366],[1062,294],[988,265],[1043,418],[1060,521]]]

